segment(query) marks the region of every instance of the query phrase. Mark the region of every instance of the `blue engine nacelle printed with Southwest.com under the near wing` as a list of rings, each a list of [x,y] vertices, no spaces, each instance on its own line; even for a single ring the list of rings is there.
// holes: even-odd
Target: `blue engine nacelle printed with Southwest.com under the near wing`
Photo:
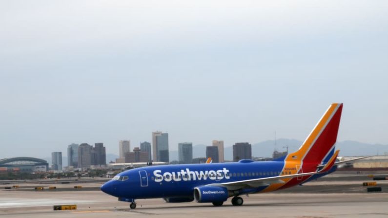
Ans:
[[[194,188],[194,199],[200,203],[224,202],[229,197],[225,187],[200,186]]]

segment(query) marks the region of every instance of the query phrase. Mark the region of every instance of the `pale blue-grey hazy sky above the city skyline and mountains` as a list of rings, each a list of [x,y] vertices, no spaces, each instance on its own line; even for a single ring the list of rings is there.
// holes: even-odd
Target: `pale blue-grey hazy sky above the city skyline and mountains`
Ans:
[[[0,158],[76,142],[388,144],[388,1],[0,0]]]

